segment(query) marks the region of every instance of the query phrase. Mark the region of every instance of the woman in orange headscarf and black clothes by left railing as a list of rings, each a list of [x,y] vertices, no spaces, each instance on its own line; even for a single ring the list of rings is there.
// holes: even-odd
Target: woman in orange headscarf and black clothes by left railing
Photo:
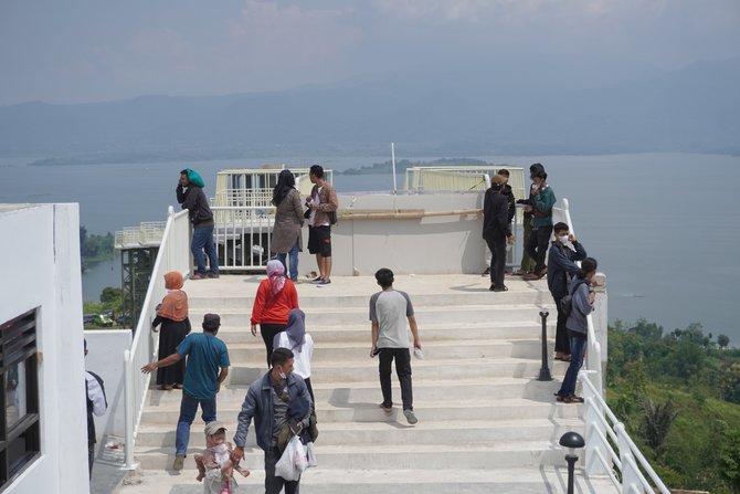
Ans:
[[[157,308],[157,317],[151,322],[151,330],[157,333],[157,326],[161,324],[159,334],[159,359],[173,354],[178,345],[190,334],[190,319],[188,318],[188,294],[182,291],[182,274],[170,271],[165,274],[165,287],[167,295]],[[157,369],[157,388],[169,391],[172,388],[182,388],[184,381],[184,360],[180,360],[169,367]]]

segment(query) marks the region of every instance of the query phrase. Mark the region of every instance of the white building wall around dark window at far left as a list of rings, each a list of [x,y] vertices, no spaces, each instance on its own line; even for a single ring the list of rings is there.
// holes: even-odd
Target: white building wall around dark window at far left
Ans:
[[[0,320],[40,307],[39,460],[6,493],[88,493],[77,204],[0,206]]]

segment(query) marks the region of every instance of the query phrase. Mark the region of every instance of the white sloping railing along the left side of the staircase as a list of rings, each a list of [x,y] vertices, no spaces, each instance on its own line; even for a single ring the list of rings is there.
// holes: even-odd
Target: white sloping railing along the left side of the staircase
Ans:
[[[157,338],[151,328],[156,306],[167,293],[165,273],[179,271],[183,276],[190,273],[190,220],[188,211],[175,213],[168,210],[167,223],[159,244],[157,261],[151,272],[147,295],[141,305],[141,315],[136,325],[130,349],[124,351],[124,380],[126,386],[126,464],[124,469],[134,470],[134,446],[136,432],[141,419],[144,401],[149,387],[150,375],[141,374],[140,368],[156,356]]]

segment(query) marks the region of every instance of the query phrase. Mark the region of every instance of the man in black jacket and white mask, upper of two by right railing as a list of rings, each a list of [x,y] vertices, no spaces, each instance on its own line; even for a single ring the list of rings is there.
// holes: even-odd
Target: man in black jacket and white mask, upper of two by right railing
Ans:
[[[575,261],[583,261],[586,256],[585,249],[575,237],[570,233],[569,227],[559,222],[553,227],[556,240],[550,243],[548,253],[548,288],[558,311],[558,326],[556,328],[556,360],[570,359],[570,339],[565,329],[568,316],[562,309],[562,297],[568,295],[568,284],[572,276],[578,273]],[[573,250],[568,248],[573,245]]]

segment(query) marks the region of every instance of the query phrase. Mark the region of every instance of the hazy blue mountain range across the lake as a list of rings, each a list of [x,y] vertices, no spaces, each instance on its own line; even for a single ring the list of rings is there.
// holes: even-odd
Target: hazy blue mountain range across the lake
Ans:
[[[517,74],[510,74],[516,78]],[[547,74],[541,74],[543,78]],[[55,165],[305,154],[740,154],[740,59],[586,88],[488,73],[0,107],[0,155]]]

